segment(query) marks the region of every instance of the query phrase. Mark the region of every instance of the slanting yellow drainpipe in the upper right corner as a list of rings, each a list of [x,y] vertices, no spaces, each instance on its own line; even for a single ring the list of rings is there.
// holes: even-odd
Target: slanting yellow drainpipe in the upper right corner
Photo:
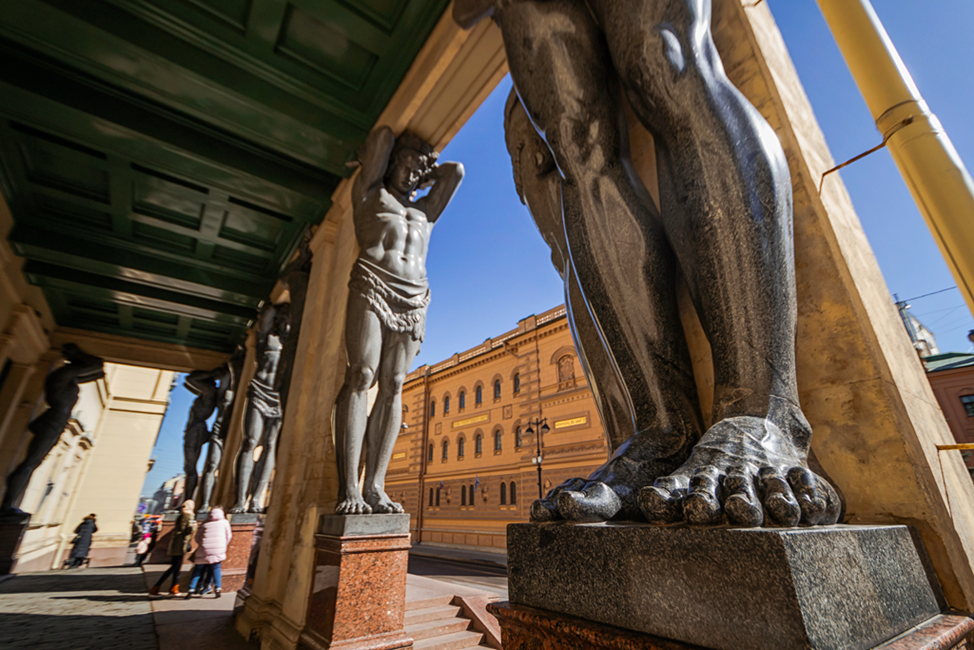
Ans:
[[[818,0],[876,126],[974,313],[974,181],[869,0]]]

